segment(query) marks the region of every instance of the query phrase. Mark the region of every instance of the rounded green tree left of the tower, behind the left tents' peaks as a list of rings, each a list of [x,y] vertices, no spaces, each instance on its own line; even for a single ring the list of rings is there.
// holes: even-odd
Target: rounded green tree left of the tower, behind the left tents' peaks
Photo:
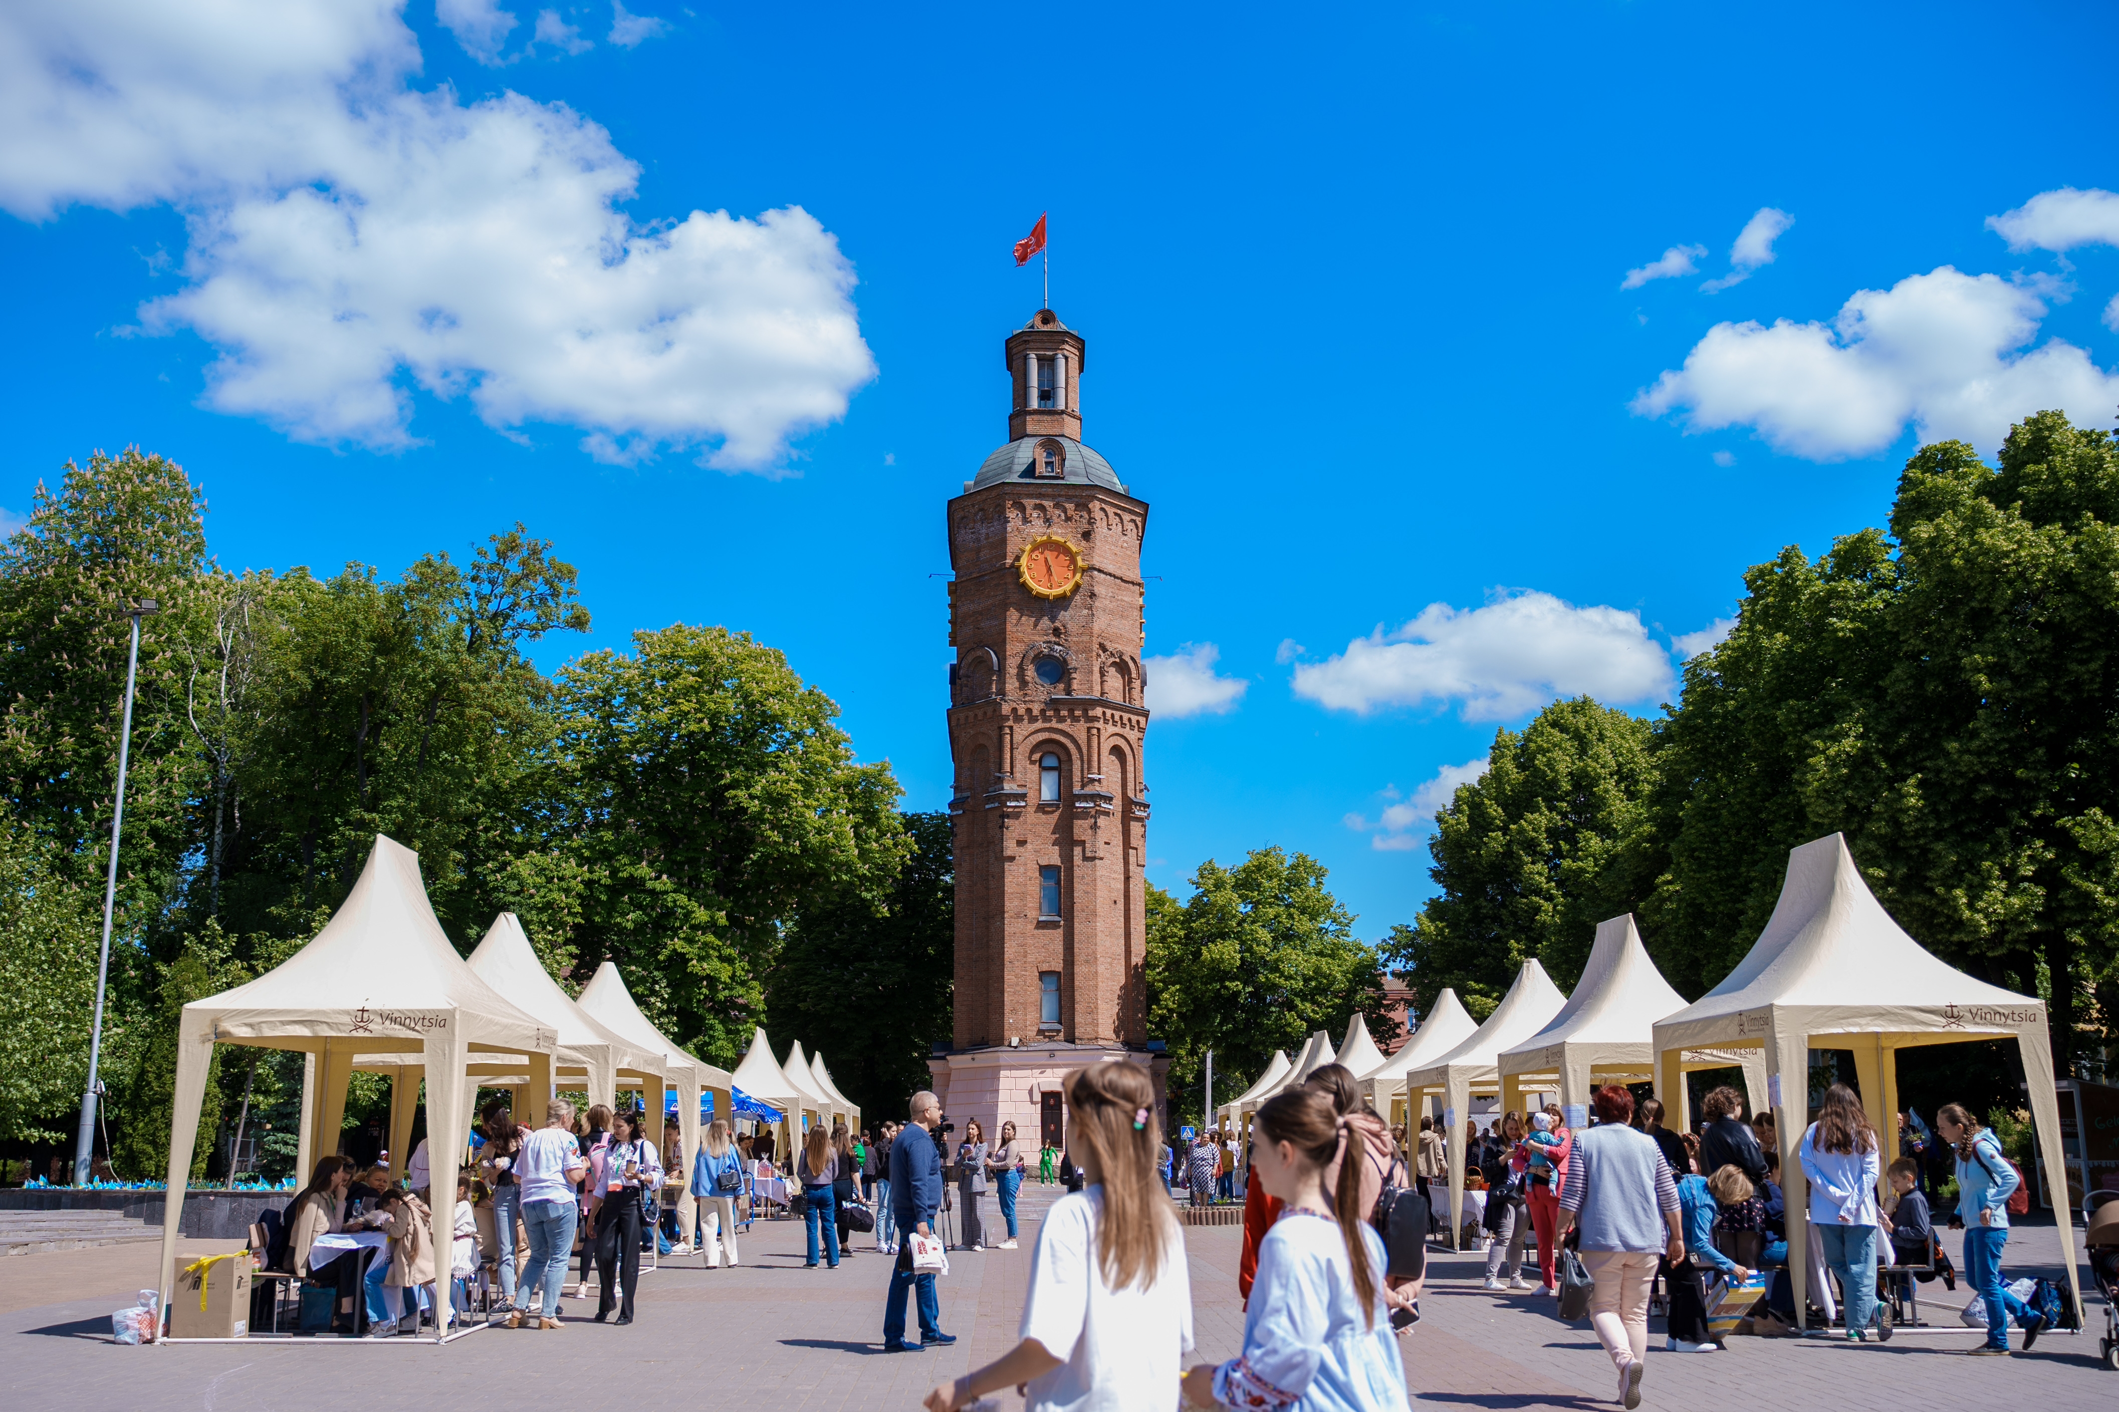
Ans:
[[[888,762],[858,764],[839,707],[748,633],[670,627],[559,673],[547,836],[576,859],[551,915],[617,961],[640,1008],[733,1065],[782,925],[829,900],[888,906],[911,843]]]

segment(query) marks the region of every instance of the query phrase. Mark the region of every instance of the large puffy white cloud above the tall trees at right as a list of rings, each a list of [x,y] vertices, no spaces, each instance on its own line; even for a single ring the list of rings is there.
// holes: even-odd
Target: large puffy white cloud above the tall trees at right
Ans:
[[[1943,265],[1858,290],[1831,324],[1716,324],[1632,411],[1682,413],[1693,432],[1748,426],[1814,461],[1884,451],[1907,421],[1922,440],[1981,451],[2049,406],[2098,423],[2119,402],[2119,377],[2060,339],[2017,351],[2045,318],[2038,290]]]

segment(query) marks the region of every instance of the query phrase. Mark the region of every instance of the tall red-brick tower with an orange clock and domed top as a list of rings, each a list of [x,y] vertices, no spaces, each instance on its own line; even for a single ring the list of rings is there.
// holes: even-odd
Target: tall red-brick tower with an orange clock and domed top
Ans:
[[[930,1061],[962,1128],[1064,1143],[1060,1080],[1138,1063],[1142,989],[1140,536],[1148,506],[1081,445],[1083,339],[1040,309],[1007,341],[1009,445],[949,502],[956,1029]],[[1168,1118],[1168,1111],[1165,1111]]]

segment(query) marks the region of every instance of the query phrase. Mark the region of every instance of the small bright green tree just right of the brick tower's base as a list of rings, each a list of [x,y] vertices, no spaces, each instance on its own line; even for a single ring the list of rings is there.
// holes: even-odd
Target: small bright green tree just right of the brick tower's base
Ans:
[[[1396,1039],[1379,955],[1324,879],[1310,855],[1269,847],[1235,868],[1199,864],[1182,904],[1148,885],[1148,1033],[1170,1046],[1174,1111],[1199,1114],[1210,1048],[1216,1094],[1233,1097],[1274,1050],[1316,1029],[1337,1039],[1356,1012],[1379,1046]]]

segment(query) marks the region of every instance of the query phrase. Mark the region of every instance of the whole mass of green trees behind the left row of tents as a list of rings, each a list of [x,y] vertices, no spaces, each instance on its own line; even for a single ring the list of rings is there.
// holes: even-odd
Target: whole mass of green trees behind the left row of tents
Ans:
[[[882,919],[869,944],[915,948],[907,974],[943,938],[945,995],[947,868],[901,876],[915,851],[890,766],[854,760],[837,707],[778,652],[672,627],[547,675],[530,646],[587,631],[589,612],[574,567],[523,525],[396,578],[229,574],[203,512],[174,461],[97,453],[40,485],[0,546],[0,1141],[68,1133],[87,1075],[140,599],[161,612],[140,635],[102,1058],[123,1175],[165,1166],[182,1003],[316,936],[379,832],[420,853],[460,948],[511,908],[562,984],[610,957],[648,1014],[723,1063],[803,908],[818,931],[835,906]],[[873,1020],[877,1054],[890,1020]],[[290,1082],[299,1067],[237,1058],[208,1097],[233,1122],[250,1086],[275,1171]],[[201,1171],[216,1147],[208,1118]]]

